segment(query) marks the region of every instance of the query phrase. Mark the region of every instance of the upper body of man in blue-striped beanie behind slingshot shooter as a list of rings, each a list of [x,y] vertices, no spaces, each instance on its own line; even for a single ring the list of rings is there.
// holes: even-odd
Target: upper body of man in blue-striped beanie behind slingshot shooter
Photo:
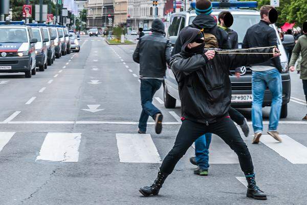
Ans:
[[[228,42],[228,34],[220,27],[217,26],[215,19],[211,16],[212,4],[210,0],[198,0],[196,1],[196,14],[191,25],[188,27],[204,29],[204,33],[213,34],[218,43],[218,48],[221,49],[231,49]],[[176,40],[176,44],[172,50],[171,55],[180,53],[182,47],[182,42],[179,38]]]

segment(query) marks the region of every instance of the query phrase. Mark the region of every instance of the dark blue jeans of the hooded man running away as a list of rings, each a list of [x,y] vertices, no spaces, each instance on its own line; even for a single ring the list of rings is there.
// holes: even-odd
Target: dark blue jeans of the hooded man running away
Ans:
[[[159,79],[141,79],[141,103],[142,113],[139,120],[139,129],[141,132],[146,132],[148,117],[155,117],[161,111],[152,105],[153,95],[160,89],[162,80]]]

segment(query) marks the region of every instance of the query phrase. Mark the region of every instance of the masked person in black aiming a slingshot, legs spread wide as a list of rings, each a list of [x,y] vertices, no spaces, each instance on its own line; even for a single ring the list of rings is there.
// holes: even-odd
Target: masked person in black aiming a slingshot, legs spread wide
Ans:
[[[158,195],[165,179],[195,139],[204,133],[214,133],[238,155],[248,182],[247,197],[267,199],[256,186],[251,155],[228,115],[231,101],[229,70],[277,57],[280,55],[278,49],[236,51],[253,55],[215,55],[213,50],[204,50],[204,37],[199,29],[184,28],[180,38],[183,42],[181,52],[171,57],[170,66],[179,85],[182,125],[173,148],[162,162],[157,179],[151,186],[142,187],[139,191],[144,196]]]

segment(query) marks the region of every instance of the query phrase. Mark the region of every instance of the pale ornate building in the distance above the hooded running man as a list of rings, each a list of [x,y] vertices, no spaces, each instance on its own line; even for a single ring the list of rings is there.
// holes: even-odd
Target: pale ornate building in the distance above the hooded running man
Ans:
[[[131,27],[133,30],[150,29],[154,18],[164,18],[165,1],[159,0],[156,7],[152,5],[152,1],[128,0],[127,27]],[[155,11],[158,15],[155,15]]]

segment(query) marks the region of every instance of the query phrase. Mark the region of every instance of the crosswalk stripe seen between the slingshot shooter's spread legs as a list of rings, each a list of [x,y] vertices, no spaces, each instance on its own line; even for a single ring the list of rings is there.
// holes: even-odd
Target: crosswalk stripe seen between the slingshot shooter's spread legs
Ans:
[[[195,149],[195,143],[192,147]],[[212,136],[209,147],[210,164],[232,164],[239,163],[238,156],[218,136]]]

